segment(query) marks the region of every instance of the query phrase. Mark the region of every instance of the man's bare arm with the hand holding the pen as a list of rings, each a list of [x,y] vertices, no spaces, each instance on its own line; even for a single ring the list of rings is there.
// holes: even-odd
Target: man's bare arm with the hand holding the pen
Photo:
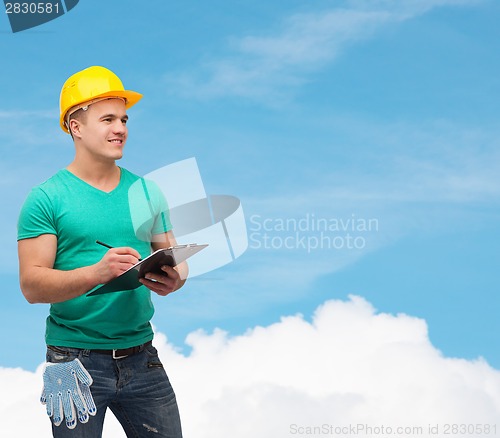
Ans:
[[[30,303],[58,303],[107,283],[135,264],[132,248],[113,248],[96,264],[70,271],[54,269],[57,237],[43,234],[18,242],[21,290]]]

